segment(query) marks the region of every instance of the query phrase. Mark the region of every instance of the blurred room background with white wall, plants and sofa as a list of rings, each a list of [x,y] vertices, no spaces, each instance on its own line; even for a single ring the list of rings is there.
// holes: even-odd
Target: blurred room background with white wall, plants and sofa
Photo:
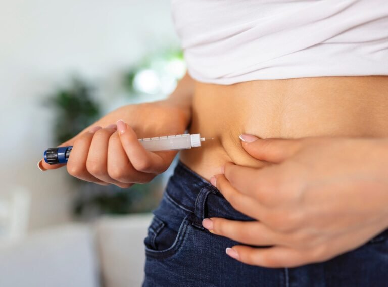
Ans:
[[[167,97],[184,73],[168,0],[0,0],[0,286],[141,284],[171,168],[120,189],[36,164],[101,115]]]

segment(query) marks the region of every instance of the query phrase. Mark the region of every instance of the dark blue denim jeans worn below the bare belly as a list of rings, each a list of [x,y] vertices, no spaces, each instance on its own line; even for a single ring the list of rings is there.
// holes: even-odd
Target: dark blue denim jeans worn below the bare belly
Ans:
[[[388,207],[387,207],[388,208]],[[236,211],[208,181],[179,162],[144,240],[151,286],[388,286],[388,230],[322,263],[264,268],[225,254],[237,242],[202,227],[202,219],[253,220]]]

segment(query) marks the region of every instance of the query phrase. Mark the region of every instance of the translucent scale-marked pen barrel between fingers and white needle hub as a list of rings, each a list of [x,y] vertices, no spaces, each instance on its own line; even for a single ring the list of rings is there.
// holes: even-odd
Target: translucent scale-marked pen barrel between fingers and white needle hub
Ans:
[[[191,148],[190,134],[142,138],[139,141],[141,145],[150,152],[174,151]]]

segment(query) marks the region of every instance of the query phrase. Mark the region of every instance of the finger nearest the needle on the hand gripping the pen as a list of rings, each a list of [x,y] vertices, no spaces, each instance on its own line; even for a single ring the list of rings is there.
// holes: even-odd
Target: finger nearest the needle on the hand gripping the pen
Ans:
[[[147,173],[162,173],[168,168],[176,152],[149,152],[141,145],[136,133],[129,125],[119,120],[117,128],[124,151],[136,170]]]

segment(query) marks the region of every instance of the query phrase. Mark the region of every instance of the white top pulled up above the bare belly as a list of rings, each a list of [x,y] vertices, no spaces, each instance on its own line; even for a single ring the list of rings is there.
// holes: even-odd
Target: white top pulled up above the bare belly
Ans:
[[[201,82],[388,75],[388,0],[172,0],[172,15]]]

